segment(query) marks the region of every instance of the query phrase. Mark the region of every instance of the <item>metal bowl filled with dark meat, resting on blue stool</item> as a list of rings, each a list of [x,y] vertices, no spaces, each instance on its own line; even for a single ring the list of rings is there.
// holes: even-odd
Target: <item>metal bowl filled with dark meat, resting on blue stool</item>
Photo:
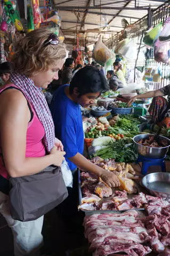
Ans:
[[[153,136],[153,134],[139,134],[133,137],[133,142],[135,143],[137,152],[144,157],[163,158],[166,155],[170,146],[170,140],[164,136],[159,135],[160,139],[167,140],[169,143],[168,146],[162,148],[147,147],[137,143],[139,140],[149,138],[150,136]]]

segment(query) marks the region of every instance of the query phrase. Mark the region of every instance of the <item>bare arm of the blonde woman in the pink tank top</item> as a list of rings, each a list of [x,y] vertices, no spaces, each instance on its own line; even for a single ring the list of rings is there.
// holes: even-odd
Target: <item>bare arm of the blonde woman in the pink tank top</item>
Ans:
[[[0,95],[1,148],[7,172],[21,177],[42,171],[49,165],[61,165],[64,152],[52,149],[44,157],[26,157],[26,135],[30,111],[23,94],[15,89]]]

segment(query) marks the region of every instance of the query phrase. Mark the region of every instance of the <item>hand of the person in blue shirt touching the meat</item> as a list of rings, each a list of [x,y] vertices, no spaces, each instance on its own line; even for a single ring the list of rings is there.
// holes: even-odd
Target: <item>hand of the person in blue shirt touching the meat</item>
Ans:
[[[109,187],[119,187],[120,186],[120,182],[119,179],[117,178],[117,176],[107,170],[102,171],[102,174],[100,175],[101,179],[107,183],[107,185]]]

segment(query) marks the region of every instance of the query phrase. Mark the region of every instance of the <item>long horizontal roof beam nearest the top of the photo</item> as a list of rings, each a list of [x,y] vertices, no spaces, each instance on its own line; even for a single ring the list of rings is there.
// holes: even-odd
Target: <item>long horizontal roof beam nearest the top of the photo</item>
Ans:
[[[72,9],[72,10],[81,10],[81,9],[87,9],[86,6],[57,6],[56,5],[56,9],[58,10],[68,10],[68,9]],[[101,9],[100,5],[96,5],[96,6],[89,6],[88,9]],[[102,10],[140,10],[140,11],[143,11],[143,10],[148,10],[148,7],[112,7],[112,6],[103,6],[102,7]]]

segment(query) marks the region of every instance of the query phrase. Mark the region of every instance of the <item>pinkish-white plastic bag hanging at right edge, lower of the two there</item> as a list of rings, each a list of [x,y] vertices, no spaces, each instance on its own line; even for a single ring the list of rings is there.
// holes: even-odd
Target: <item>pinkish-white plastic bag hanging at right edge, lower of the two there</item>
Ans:
[[[155,49],[154,49],[155,61],[168,63],[169,50],[170,50],[170,41],[160,42],[159,39],[157,39],[155,43]]]

